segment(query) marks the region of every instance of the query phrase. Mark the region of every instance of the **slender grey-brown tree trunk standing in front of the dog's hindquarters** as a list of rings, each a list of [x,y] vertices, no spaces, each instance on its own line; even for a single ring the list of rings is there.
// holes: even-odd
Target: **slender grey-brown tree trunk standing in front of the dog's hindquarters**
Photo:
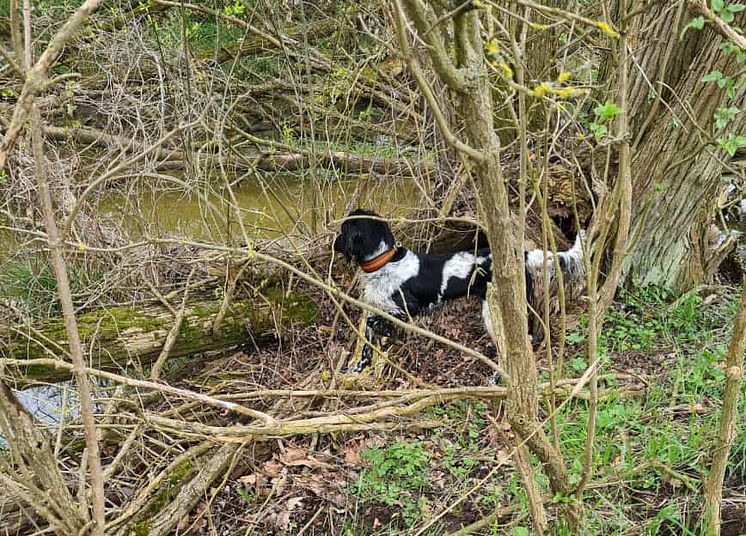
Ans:
[[[398,3],[397,3],[398,4]],[[456,101],[456,116],[462,123],[466,142],[450,130],[432,88],[413,59],[404,30],[403,6],[397,6],[400,45],[420,90],[433,108],[436,123],[448,143],[468,160],[484,211],[493,258],[492,286],[488,306],[508,383],[507,416],[516,436],[526,438],[531,451],[545,464],[552,491],[568,495],[569,474],[561,455],[552,446],[538,420],[536,358],[528,340],[526,292],[523,270],[523,237],[516,236],[510,212],[507,181],[500,163],[500,140],[495,132],[492,85],[484,62],[479,13],[464,9],[453,15],[451,31],[439,28],[443,14],[435,3],[405,0],[406,15],[419,38],[428,45],[428,54],[440,80]],[[451,39],[453,42],[451,43]],[[528,473],[526,478],[532,478]],[[527,486],[534,486],[528,482]],[[541,505],[534,505],[534,523],[544,529]],[[575,508],[568,508],[571,522],[577,521]]]

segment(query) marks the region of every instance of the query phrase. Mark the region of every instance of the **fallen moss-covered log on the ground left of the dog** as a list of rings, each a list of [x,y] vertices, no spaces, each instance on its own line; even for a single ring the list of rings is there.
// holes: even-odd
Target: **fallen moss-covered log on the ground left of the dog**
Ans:
[[[316,305],[305,294],[266,288],[252,298],[237,299],[223,319],[219,334],[213,324],[221,300],[195,297],[184,310],[179,333],[169,358],[227,349],[236,344],[261,342],[278,335],[283,327],[308,325],[316,316]],[[109,307],[78,316],[78,329],[89,366],[122,372],[152,363],[161,353],[174,315],[162,304]],[[56,357],[69,360],[62,318],[39,325],[0,325],[0,356],[13,359]],[[19,383],[58,381],[69,377],[51,367],[6,369]]]

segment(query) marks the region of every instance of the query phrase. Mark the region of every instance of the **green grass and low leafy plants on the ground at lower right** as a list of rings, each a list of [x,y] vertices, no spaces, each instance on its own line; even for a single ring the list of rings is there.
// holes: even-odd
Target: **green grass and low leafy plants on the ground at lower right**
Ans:
[[[605,385],[599,403],[594,445],[594,486],[585,494],[588,534],[650,536],[699,535],[696,513],[701,482],[707,475],[717,433],[724,384],[722,360],[730,338],[738,289],[714,298],[676,297],[660,289],[622,293],[606,318],[601,352],[609,367],[645,375],[643,397],[621,396],[621,386]],[[585,366],[584,328],[571,334],[568,374]],[[633,358],[630,360],[630,358]],[[639,368],[639,370],[635,370]],[[743,412],[746,401],[741,400]],[[483,402],[459,402],[430,410],[429,417],[448,424],[416,438],[400,436],[365,451],[368,468],[351,493],[358,515],[375,513],[389,523],[365,534],[405,534],[433,513],[452,504],[494,466],[494,426]],[[582,472],[588,422],[586,403],[572,401],[558,413],[561,449],[574,479]],[[726,475],[731,486],[746,479],[746,432],[737,435]],[[435,483],[440,483],[436,485]],[[539,478],[544,493],[546,479]],[[520,479],[506,469],[451,512],[468,523],[467,512],[482,515],[495,507],[523,506],[484,534],[530,534],[528,508]],[[550,512],[553,511],[550,502]],[[367,519],[367,518],[366,518]],[[360,524],[356,524],[360,526]],[[439,534],[453,530],[439,527]],[[555,527],[557,534],[569,534]],[[362,534],[362,532],[350,532]]]

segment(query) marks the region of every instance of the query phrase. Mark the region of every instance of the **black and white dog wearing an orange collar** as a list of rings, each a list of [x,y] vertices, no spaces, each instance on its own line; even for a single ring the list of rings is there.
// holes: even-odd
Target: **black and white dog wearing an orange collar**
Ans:
[[[557,254],[565,283],[583,280],[583,233],[575,245]],[[483,300],[482,318],[492,333],[492,321],[485,297],[492,279],[492,254],[488,248],[450,254],[416,253],[395,245],[388,224],[376,213],[358,209],[342,223],[334,240],[334,251],[356,263],[363,272],[363,300],[402,320],[414,317],[444,301],[476,296]],[[541,282],[545,258],[550,286],[555,282],[552,253],[540,249],[525,252],[526,294],[532,303],[534,288]],[[374,343],[378,336],[391,335],[392,326],[377,315],[370,315],[366,338]],[[350,372],[360,372],[370,365],[373,350],[363,347],[360,361]]]

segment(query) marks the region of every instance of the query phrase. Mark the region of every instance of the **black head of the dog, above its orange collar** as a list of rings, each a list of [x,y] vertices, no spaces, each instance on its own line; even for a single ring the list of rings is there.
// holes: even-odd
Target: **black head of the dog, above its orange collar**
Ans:
[[[344,255],[347,262],[362,263],[386,252],[394,246],[394,235],[388,224],[375,212],[357,209],[342,223],[334,239],[334,251]]]

